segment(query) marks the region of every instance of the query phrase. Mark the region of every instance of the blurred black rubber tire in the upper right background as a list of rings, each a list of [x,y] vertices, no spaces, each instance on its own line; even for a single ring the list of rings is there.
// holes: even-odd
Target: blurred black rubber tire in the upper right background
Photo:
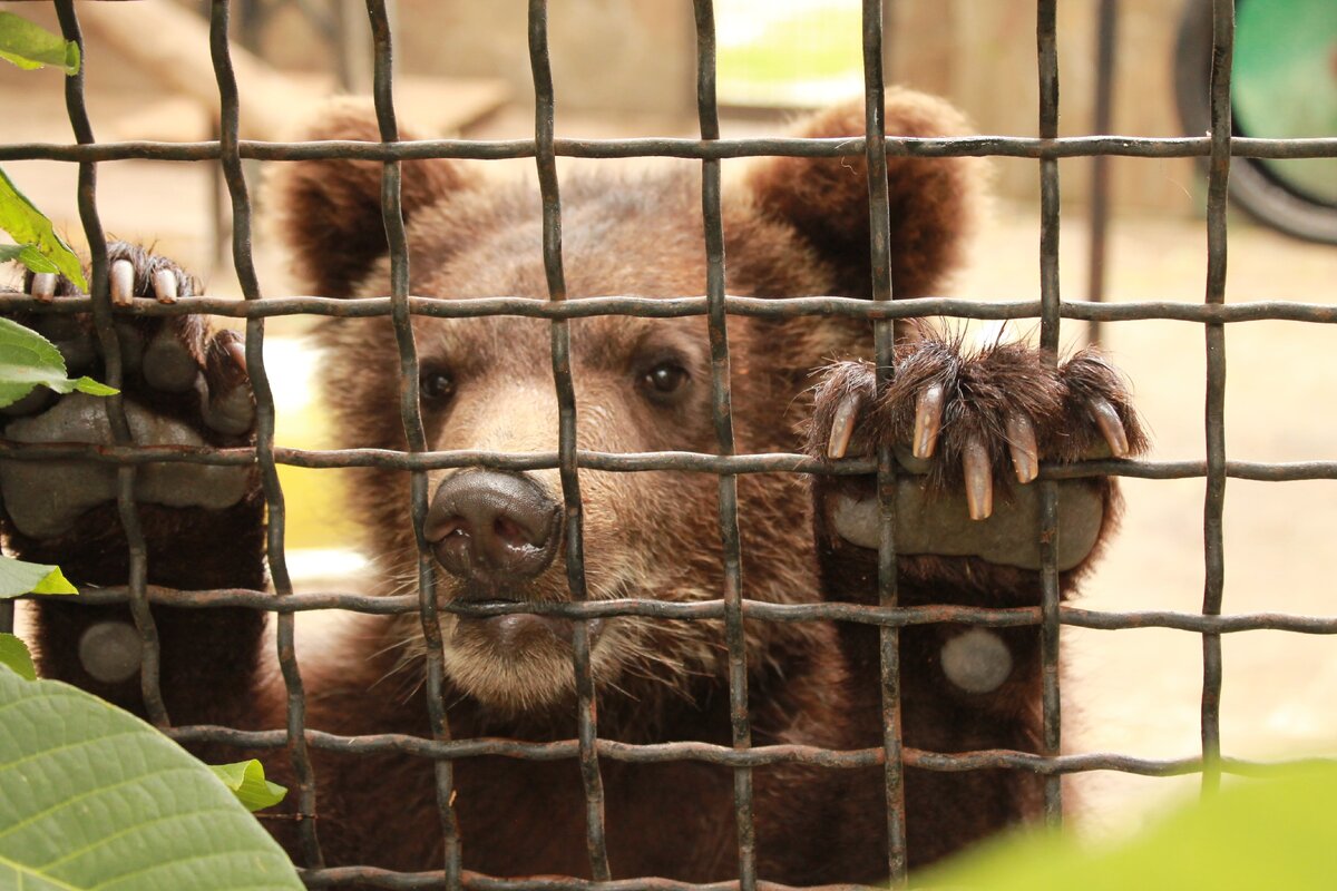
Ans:
[[[1250,0],[1237,0],[1237,8]],[[1254,0],[1257,1],[1257,0]],[[1211,0],[1189,0],[1179,21],[1174,65],[1175,103],[1185,134],[1211,128]],[[1247,136],[1235,127],[1237,136]],[[1206,159],[1199,159],[1206,170]],[[1337,207],[1316,200],[1271,175],[1255,158],[1230,163],[1230,198],[1250,216],[1309,242],[1337,244]]]

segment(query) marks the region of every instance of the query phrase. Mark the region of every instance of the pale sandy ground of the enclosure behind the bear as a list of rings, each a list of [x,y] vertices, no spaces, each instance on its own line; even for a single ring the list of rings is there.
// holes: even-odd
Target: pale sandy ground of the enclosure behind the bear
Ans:
[[[45,79],[52,80],[52,79]],[[0,95],[7,140],[67,142],[68,123],[55,88]],[[199,127],[198,112],[147,106],[140,96],[95,94],[94,128],[100,138],[159,135]],[[562,135],[673,134],[642,122],[567,122]],[[523,135],[532,126],[512,112],[479,135]],[[755,132],[757,124],[735,132]],[[179,138],[197,138],[195,132]],[[1020,162],[1004,162],[1020,163]],[[1064,162],[1066,168],[1080,162]],[[531,162],[508,163],[528,171]],[[28,196],[79,243],[74,207],[75,168],[53,162],[7,163]],[[1155,218],[1116,214],[1110,242],[1111,301],[1199,302],[1206,278],[1203,224],[1194,212],[1198,186],[1166,172],[1155,160],[1142,175],[1183,195],[1183,212]],[[254,172],[254,171],[253,171]],[[156,240],[159,250],[197,270],[211,267],[210,188],[202,164],[120,162],[99,170],[99,208],[119,238]],[[263,204],[263,190],[258,200]],[[1039,291],[1039,224],[1031,206],[999,206],[981,234],[969,270],[953,294],[1028,298]],[[262,290],[290,291],[282,258],[261,230],[255,242]],[[1084,208],[1064,208],[1063,294],[1084,297]],[[237,294],[225,267],[210,277],[210,293]],[[1289,240],[1233,219],[1230,301],[1337,301],[1337,248]],[[277,390],[285,406],[303,406],[310,367],[293,349],[301,321],[270,326]],[[1078,345],[1083,326],[1064,325],[1064,342]],[[1152,458],[1201,460],[1203,446],[1205,349],[1201,327],[1183,322],[1124,322],[1106,326],[1104,342],[1127,371],[1154,437]],[[1227,343],[1227,454],[1250,461],[1337,457],[1337,330],[1318,325],[1250,322],[1231,325]],[[309,357],[305,357],[309,359]],[[282,437],[281,437],[282,438]],[[1127,481],[1123,533],[1103,568],[1086,586],[1083,606],[1102,610],[1197,610],[1202,602],[1203,545],[1201,480]],[[1231,480],[1226,489],[1225,610],[1333,614],[1332,585],[1337,528],[1337,484],[1261,484]],[[297,534],[294,532],[294,534]],[[294,553],[299,562],[301,554]],[[329,562],[325,557],[326,568]],[[356,558],[349,562],[356,565]],[[328,580],[326,580],[328,581]],[[322,585],[308,576],[308,584]],[[344,585],[338,585],[344,588]],[[1063,689],[1071,752],[1123,752],[1143,757],[1198,752],[1201,640],[1174,631],[1087,632],[1067,629]],[[1225,641],[1222,740],[1226,753],[1249,757],[1337,753],[1337,640],[1277,632],[1227,636]],[[1122,830],[1155,814],[1169,796],[1191,793],[1194,779],[1139,779],[1100,773],[1075,781],[1092,831]]]

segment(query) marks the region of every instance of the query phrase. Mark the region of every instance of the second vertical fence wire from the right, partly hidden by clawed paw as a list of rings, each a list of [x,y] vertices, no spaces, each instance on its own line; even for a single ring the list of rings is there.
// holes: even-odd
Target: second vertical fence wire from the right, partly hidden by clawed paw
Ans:
[[[1040,76],[1040,138],[1059,135],[1059,43],[1058,3],[1039,0],[1036,8],[1036,56]],[[1040,347],[1058,362],[1059,351],[1059,159],[1040,160]],[[1059,691],[1059,488],[1054,480],[1040,484],[1040,708],[1042,755],[1054,757],[1062,748],[1062,697]],[[1063,777],[1044,777],[1044,819],[1063,822]]]

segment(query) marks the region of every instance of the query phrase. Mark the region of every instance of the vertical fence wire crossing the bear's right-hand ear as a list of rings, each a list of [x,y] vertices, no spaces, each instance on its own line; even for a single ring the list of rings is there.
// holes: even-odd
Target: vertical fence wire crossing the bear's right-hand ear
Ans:
[[[886,183],[886,88],[882,81],[882,1],[864,0],[864,136],[868,163],[869,252],[872,295],[889,302],[892,291],[890,210]],[[892,382],[896,370],[896,323],[873,322],[873,354],[877,391]],[[896,576],[896,457],[892,446],[877,448],[877,602],[896,606],[900,600]],[[878,628],[878,665],[882,687],[882,749],[886,797],[886,868],[893,886],[906,876],[905,763],[901,735],[900,629]]]

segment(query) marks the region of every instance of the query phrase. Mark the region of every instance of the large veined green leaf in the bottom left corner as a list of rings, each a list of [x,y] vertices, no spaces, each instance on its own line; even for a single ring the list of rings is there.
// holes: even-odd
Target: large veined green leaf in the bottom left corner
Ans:
[[[95,696],[0,669],[0,887],[293,888],[287,856],[207,767]]]

